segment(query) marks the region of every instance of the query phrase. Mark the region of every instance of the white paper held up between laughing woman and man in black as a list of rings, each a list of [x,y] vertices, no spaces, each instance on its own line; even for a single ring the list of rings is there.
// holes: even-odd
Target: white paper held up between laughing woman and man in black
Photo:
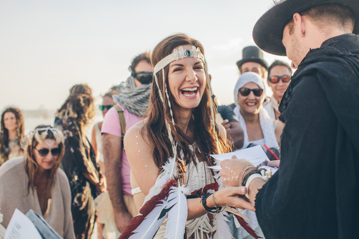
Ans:
[[[263,151],[262,147],[260,145],[246,148],[230,153],[224,153],[224,154],[210,154],[214,159],[218,161],[223,161],[224,159],[230,159],[233,155],[236,155],[238,158],[245,158],[248,161],[250,161],[254,166],[257,166],[258,164],[264,162],[266,159],[268,159],[266,153]],[[218,163],[216,166],[208,167],[213,169],[214,171],[220,171],[221,166],[220,163]],[[269,167],[269,166],[262,166],[261,168],[265,169],[272,169],[272,175],[278,170],[277,168]]]

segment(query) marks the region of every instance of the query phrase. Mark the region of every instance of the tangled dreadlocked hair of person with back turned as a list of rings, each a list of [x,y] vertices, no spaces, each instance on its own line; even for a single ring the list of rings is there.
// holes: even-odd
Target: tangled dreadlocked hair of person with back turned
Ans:
[[[87,84],[73,86],[70,96],[56,113],[57,118],[75,118],[81,127],[90,124],[95,115],[94,98]]]

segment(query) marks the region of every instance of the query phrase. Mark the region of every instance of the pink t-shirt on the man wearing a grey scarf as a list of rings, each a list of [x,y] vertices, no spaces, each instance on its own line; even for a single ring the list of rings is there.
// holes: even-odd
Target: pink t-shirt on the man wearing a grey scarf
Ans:
[[[126,121],[126,131],[132,127],[132,125],[138,123],[143,118],[138,115],[130,113],[127,109],[125,109],[122,105],[117,104],[123,110],[123,115],[125,116]],[[117,137],[121,137],[122,129],[120,124],[120,118],[118,117],[118,112],[115,107],[109,109],[103,119],[101,133],[112,134]],[[121,175],[122,175],[122,193],[132,195],[131,194],[131,184],[130,184],[130,164],[127,159],[127,155],[125,149],[122,148],[122,167],[121,167]]]

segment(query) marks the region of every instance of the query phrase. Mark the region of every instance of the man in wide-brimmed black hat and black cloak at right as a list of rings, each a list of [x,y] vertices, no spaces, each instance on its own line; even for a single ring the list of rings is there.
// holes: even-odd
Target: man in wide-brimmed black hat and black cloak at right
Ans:
[[[297,68],[279,106],[280,169],[266,183],[248,177],[255,170],[236,182],[230,170],[250,162],[229,159],[220,175],[226,186],[247,184],[266,239],[358,238],[359,36],[352,32],[359,33],[358,0],[281,1],[253,29],[257,46]]]

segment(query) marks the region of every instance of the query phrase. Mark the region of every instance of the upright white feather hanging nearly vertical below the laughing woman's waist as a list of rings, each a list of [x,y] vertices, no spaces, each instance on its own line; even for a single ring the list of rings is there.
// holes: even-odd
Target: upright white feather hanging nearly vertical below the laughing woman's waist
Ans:
[[[168,196],[166,209],[171,208],[168,212],[168,221],[164,238],[166,239],[183,239],[186,230],[187,221],[187,198],[186,195],[190,190],[185,187],[171,187]]]

